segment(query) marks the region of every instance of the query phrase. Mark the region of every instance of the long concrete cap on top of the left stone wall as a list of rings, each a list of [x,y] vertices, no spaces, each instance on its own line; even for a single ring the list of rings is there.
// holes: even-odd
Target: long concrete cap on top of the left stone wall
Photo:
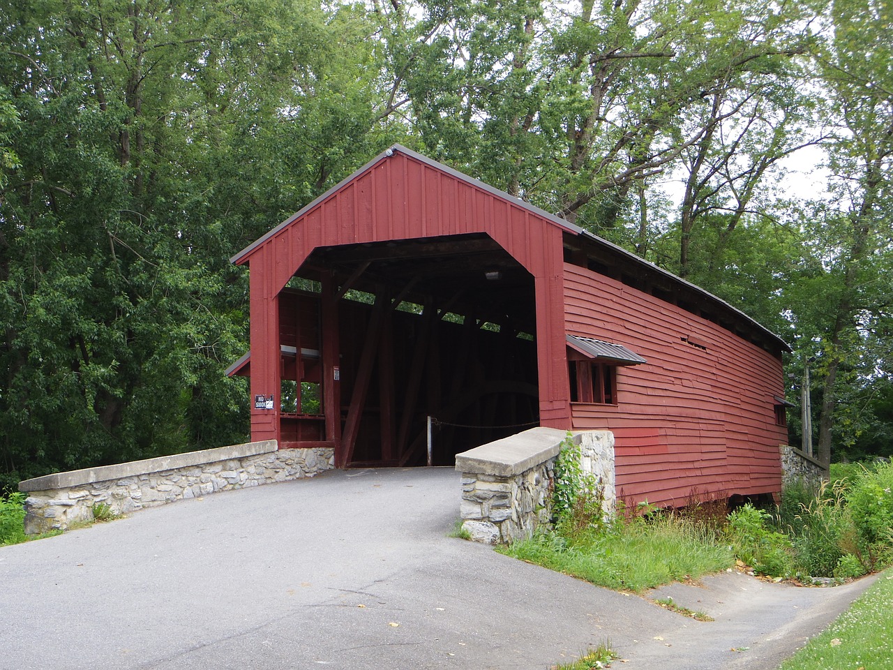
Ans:
[[[276,440],[263,440],[262,442],[246,442],[230,447],[218,447],[202,449],[201,451],[188,451],[185,454],[172,454],[171,456],[158,456],[147,458],[144,461],[131,461],[118,465],[100,465],[84,470],[72,470],[68,473],[45,474],[43,477],[35,477],[24,482],[19,482],[19,490],[53,490],[67,489],[72,486],[83,486],[94,482],[107,482],[109,480],[134,477],[140,474],[162,473],[166,470],[176,470],[190,465],[204,465],[217,461],[228,461],[233,458],[246,458],[258,456],[276,451]]]

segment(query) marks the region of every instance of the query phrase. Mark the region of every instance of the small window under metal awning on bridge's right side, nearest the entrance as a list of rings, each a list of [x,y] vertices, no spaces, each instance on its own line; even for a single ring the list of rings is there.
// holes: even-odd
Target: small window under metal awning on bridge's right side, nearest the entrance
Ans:
[[[602,339],[566,335],[571,402],[617,404],[617,367],[647,360],[634,351]]]

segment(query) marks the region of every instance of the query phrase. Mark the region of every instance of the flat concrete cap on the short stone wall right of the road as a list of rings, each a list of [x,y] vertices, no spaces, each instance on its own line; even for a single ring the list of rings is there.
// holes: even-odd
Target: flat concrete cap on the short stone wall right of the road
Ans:
[[[557,456],[566,435],[567,431],[557,428],[531,428],[456,454],[455,469],[512,477]]]

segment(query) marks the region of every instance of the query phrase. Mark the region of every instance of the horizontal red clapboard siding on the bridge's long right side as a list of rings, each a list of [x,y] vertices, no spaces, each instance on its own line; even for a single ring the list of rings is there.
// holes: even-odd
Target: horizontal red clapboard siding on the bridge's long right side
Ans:
[[[575,429],[613,431],[622,495],[680,505],[692,495],[779,491],[780,359],[620,281],[572,264],[563,273],[567,331],[647,358],[618,368],[618,405],[572,406]]]

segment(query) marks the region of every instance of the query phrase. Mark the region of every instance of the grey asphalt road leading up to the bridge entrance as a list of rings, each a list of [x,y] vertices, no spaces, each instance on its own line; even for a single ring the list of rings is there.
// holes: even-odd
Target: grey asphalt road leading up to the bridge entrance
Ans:
[[[338,471],[0,548],[0,669],[773,670],[869,585],[665,587],[698,623],[447,537],[452,469]],[[732,650],[735,649],[735,650]]]

